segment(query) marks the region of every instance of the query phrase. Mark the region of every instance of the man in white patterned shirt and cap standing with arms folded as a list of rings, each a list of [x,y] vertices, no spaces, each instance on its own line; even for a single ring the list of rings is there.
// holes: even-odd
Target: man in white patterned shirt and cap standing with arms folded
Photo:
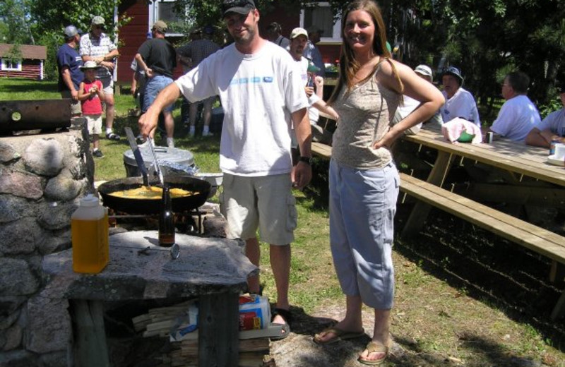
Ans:
[[[112,131],[114,126],[114,68],[119,56],[116,44],[103,32],[105,20],[95,16],[90,24],[90,32],[81,37],[80,54],[83,61],[95,61],[102,66],[96,72],[96,79],[102,82],[106,104],[106,138],[119,140],[119,135]]]

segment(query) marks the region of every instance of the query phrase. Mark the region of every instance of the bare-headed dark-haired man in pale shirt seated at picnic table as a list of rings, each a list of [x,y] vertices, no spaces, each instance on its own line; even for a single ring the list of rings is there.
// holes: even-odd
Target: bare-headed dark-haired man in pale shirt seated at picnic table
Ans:
[[[530,78],[525,73],[513,71],[506,74],[501,86],[502,97],[506,102],[489,127],[489,131],[494,133],[494,139],[504,136],[523,143],[533,126],[540,123],[540,113],[526,95],[529,86]]]

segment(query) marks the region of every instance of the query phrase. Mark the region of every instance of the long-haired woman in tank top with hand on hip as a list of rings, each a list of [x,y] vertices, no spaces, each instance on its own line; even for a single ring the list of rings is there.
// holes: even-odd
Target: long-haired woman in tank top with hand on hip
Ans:
[[[444,97],[410,67],[391,59],[374,1],[353,1],[342,19],[340,78],[328,103],[340,116],[330,163],[330,243],[346,313],[314,342],[364,335],[365,303],[374,308],[374,335],[359,362],[377,365],[391,345],[393,218],[399,186],[391,145],[405,129],[429,119]],[[391,126],[403,94],[420,106]]]

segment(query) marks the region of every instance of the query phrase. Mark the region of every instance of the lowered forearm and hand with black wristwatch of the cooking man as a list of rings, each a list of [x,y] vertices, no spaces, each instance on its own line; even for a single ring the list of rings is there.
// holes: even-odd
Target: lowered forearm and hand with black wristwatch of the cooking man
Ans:
[[[303,108],[292,112],[292,123],[295,126],[300,157],[310,158],[312,156],[312,131],[307,109]],[[299,190],[302,190],[312,179],[312,167],[306,162],[298,162],[298,164],[292,168],[290,178],[292,179],[293,185],[299,188]]]

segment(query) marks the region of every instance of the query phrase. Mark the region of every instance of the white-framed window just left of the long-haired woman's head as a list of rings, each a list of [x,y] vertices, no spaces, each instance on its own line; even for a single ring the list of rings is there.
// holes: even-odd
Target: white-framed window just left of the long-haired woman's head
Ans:
[[[333,23],[330,3],[318,1],[309,3],[300,11],[300,26],[304,29],[315,25],[322,30],[320,42],[341,42],[341,20]]]

